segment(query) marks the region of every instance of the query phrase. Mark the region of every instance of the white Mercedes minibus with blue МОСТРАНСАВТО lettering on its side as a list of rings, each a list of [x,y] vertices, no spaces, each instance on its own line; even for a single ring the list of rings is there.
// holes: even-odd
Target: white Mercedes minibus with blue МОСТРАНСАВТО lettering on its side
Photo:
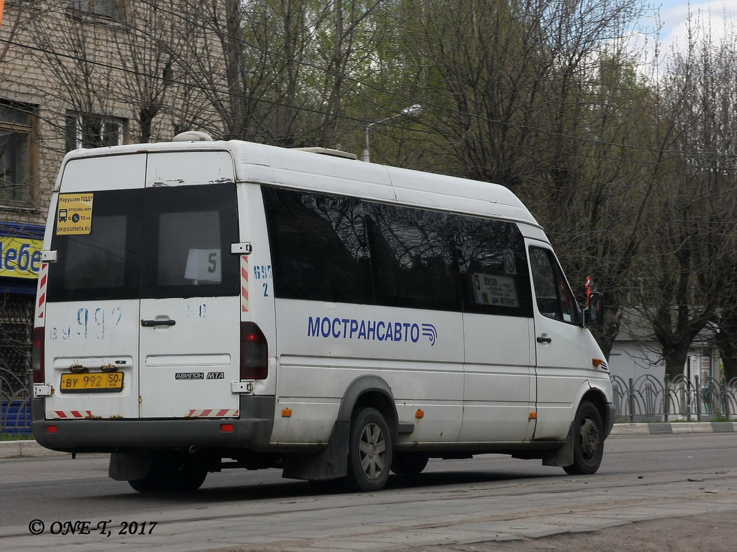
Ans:
[[[500,185],[186,132],[67,154],[41,255],[35,439],[137,491],[601,463],[601,294]]]

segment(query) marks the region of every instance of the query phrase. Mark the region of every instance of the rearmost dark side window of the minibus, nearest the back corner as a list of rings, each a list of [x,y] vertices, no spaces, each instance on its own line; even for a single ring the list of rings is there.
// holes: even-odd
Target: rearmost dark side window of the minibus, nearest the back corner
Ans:
[[[374,303],[360,201],[262,187],[274,294]]]

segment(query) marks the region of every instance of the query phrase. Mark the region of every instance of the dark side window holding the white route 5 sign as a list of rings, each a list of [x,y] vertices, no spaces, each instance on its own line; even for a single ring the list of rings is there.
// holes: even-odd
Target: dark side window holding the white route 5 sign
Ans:
[[[455,217],[464,311],[532,316],[525,241],[512,222]]]

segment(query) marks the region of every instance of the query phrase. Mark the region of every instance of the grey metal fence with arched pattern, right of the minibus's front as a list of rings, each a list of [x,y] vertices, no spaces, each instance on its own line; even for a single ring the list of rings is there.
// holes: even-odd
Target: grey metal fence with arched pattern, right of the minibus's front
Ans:
[[[617,422],[710,422],[737,420],[737,378],[660,381],[652,375],[612,376]]]

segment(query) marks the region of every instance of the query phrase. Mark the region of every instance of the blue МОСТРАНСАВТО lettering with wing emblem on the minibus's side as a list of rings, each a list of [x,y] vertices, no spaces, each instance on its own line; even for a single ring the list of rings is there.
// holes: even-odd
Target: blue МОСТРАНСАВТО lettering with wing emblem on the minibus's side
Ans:
[[[310,316],[307,320],[307,337],[411,343],[417,343],[421,337],[425,337],[432,347],[438,339],[438,330],[432,324],[416,322]]]

